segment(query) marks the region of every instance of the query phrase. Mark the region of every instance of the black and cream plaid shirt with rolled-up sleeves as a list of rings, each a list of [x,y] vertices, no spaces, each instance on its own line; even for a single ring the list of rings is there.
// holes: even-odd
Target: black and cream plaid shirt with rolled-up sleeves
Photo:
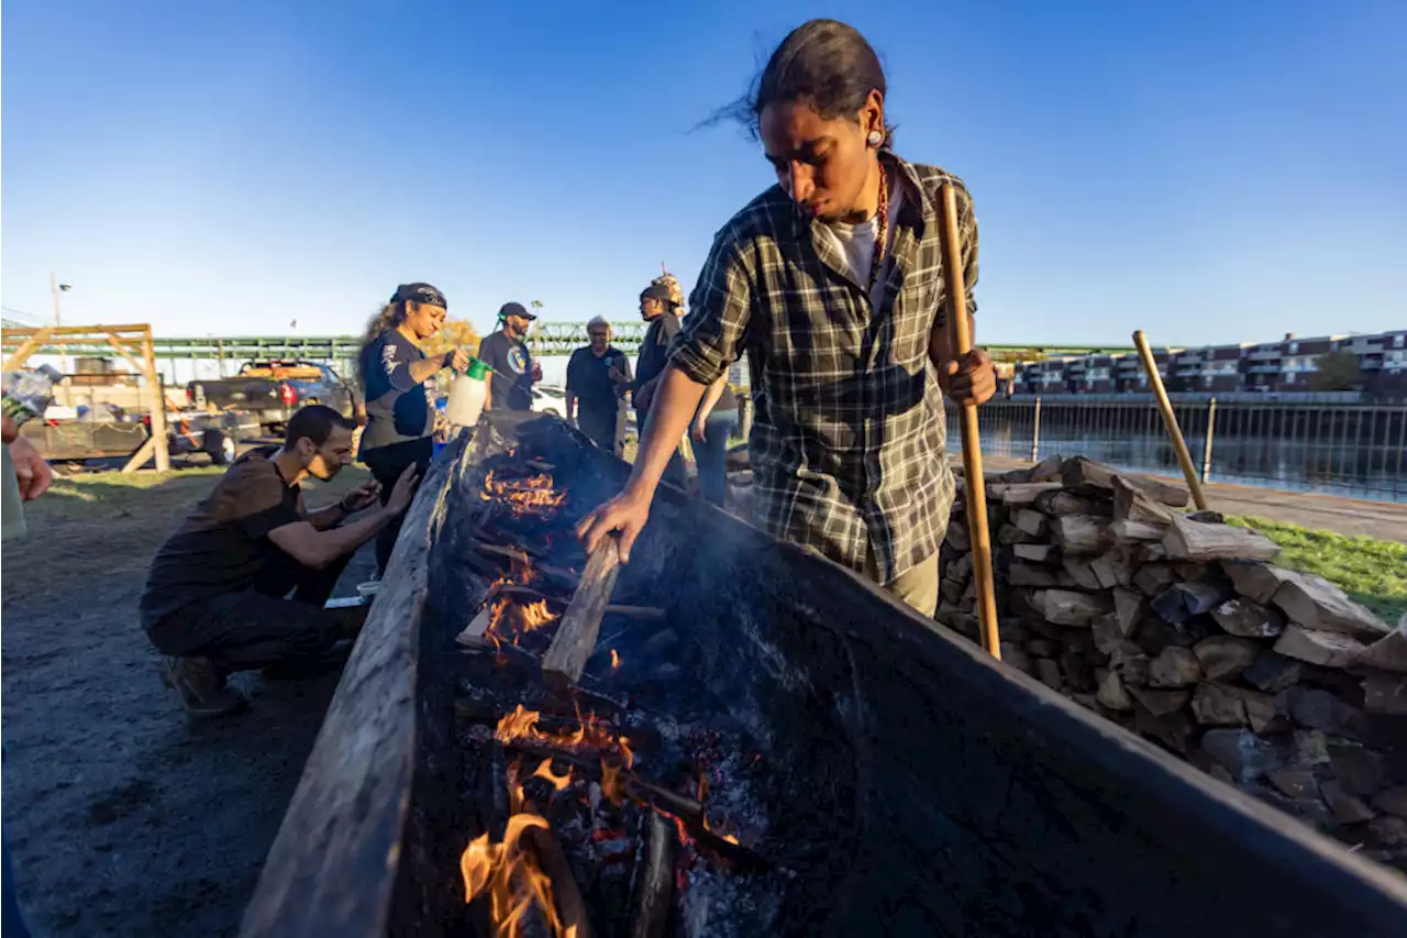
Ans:
[[[882,582],[937,552],[953,507],[947,418],[929,335],[946,323],[938,187],[957,186],[975,311],[976,217],[961,180],[884,155],[905,183],[874,308],[836,239],[779,186],[715,237],[673,363],[711,383],[747,354],[754,521]]]

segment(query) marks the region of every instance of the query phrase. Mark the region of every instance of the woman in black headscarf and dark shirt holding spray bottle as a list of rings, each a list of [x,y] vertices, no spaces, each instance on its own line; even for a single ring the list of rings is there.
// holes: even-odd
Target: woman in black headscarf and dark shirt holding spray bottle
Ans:
[[[429,358],[421,342],[445,325],[449,304],[429,283],[404,283],[367,323],[356,370],[366,401],[366,428],[359,458],[380,483],[386,504],[407,466],[425,476],[435,455],[435,376],[446,368],[464,370],[469,354],[450,349]],[[376,538],[376,572],[386,573],[401,535],[400,517]]]

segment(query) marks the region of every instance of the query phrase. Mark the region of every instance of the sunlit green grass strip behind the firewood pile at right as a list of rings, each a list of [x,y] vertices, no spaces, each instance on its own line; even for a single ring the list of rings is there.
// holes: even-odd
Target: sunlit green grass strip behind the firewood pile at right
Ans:
[[[1276,563],[1323,576],[1389,625],[1407,615],[1407,544],[1314,531],[1255,515],[1227,521],[1271,538],[1280,545]]]

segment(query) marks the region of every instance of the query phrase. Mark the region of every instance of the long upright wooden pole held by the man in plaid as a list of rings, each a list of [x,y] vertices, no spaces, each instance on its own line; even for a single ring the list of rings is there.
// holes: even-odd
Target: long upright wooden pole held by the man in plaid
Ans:
[[[958,231],[958,201],[953,183],[943,183],[943,282],[948,296],[948,335],[953,355],[972,351],[968,325],[967,287],[962,283],[962,237]],[[992,583],[992,541],[986,530],[986,476],[982,475],[982,444],[976,428],[976,404],[958,411],[962,430],[962,472],[967,479],[968,539],[972,548],[972,580],[976,586],[976,613],[982,623],[982,645],[1000,661],[1002,637],[996,623],[996,586]]]

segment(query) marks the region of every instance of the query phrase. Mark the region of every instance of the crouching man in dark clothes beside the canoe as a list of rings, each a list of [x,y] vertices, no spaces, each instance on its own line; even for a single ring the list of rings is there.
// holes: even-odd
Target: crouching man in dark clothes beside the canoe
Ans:
[[[241,456],[152,561],[142,625],[187,711],[236,710],[248,700],[227,683],[232,672],[307,673],[356,637],[363,615],[349,613],[360,610],[324,604],[356,549],[409,506],[416,475],[407,468],[387,503],[350,524],[342,521],[380,501],[377,482],[305,510],[298,484],[352,462],[355,427],[331,407],[304,407],[283,446]]]

